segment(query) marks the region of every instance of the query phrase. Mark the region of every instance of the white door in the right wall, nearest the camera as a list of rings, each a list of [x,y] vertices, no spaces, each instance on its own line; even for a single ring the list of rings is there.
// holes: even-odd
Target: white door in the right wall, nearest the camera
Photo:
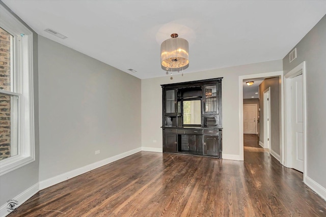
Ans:
[[[303,88],[302,74],[291,78],[292,167],[303,172]]]

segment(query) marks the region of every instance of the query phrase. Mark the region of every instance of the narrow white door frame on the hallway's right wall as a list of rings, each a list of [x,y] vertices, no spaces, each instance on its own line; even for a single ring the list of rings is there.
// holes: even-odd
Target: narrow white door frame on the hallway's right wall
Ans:
[[[268,100],[266,101],[265,94],[268,92]],[[267,104],[267,105],[266,105]],[[264,148],[268,148],[270,150],[270,87],[264,90],[263,93],[263,105],[264,105],[264,111],[263,111],[263,120],[264,120]],[[267,109],[268,109],[268,126],[267,126]],[[267,130],[268,129],[268,130]],[[269,140],[267,140],[269,138]],[[268,145],[267,145],[268,144]]]

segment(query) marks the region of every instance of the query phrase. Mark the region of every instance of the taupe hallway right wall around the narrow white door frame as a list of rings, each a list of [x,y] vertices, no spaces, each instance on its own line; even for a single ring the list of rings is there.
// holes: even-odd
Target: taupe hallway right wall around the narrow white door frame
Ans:
[[[280,154],[280,78],[266,78],[259,85],[259,141],[264,143],[264,91],[270,87],[270,149]]]

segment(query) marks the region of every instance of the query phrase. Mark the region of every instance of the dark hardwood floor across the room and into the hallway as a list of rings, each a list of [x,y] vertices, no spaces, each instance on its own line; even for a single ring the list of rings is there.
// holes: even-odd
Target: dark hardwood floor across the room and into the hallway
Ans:
[[[142,151],[44,189],[8,216],[326,216],[302,180],[254,144],[243,162]]]

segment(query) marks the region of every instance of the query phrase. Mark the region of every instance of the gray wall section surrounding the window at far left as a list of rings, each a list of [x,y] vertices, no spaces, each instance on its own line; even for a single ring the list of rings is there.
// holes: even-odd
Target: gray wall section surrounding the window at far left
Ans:
[[[8,9],[3,2],[0,1],[0,4]],[[11,10],[9,9],[8,11]],[[33,32],[35,161],[0,176],[0,207],[7,204],[8,200],[14,199],[17,195],[29,189],[39,181],[38,37],[33,29],[26,25],[16,15],[15,17]]]

